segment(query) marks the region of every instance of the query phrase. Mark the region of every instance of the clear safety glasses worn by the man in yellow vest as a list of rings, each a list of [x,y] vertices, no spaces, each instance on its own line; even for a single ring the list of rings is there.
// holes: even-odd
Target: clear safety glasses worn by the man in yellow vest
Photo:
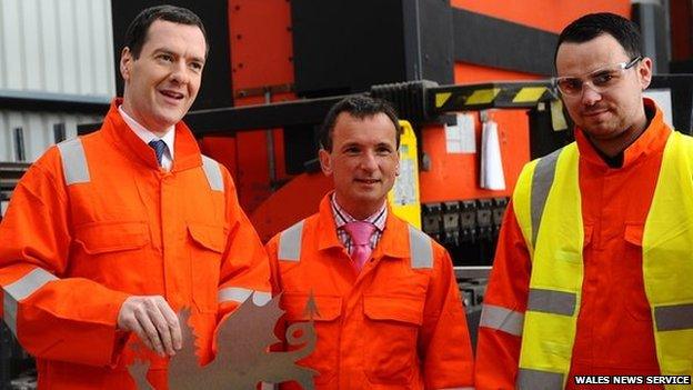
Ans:
[[[561,91],[561,94],[566,97],[581,94],[584,84],[590,86],[597,93],[603,93],[617,84],[623,79],[625,71],[633,68],[640,60],[642,60],[642,56],[635,57],[627,62],[619,62],[597,69],[582,77],[556,77],[553,79],[553,82]]]

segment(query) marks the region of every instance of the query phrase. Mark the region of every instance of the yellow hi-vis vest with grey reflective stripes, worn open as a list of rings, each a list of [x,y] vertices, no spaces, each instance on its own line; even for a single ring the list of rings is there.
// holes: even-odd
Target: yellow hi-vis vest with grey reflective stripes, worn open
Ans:
[[[573,142],[530,162],[513,193],[532,259],[516,380],[521,390],[563,389],[571,367],[584,276],[579,158]],[[664,148],[642,256],[660,370],[693,376],[693,138],[679,132]]]

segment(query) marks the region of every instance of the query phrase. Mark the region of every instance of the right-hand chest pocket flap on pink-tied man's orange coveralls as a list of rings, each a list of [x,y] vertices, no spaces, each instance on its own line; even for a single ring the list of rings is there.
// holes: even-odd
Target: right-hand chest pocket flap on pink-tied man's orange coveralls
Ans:
[[[423,299],[364,296],[363,312],[371,320],[391,320],[420,326],[423,322]]]

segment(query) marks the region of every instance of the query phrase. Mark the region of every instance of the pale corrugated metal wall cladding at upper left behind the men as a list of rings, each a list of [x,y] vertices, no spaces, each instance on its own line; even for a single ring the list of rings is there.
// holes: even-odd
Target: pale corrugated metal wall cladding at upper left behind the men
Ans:
[[[116,92],[110,0],[0,1],[0,90],[110,99]],[[54,143],[53,124],[100,116],[0,110],[0,161],[17,161],[13,129],[21,127],[28,161]]]

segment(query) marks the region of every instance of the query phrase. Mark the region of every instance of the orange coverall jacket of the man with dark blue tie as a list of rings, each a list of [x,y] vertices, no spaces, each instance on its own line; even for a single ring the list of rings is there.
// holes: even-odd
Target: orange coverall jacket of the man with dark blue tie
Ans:
[[[80,138],[82,161],[63,161],[67,154],[52,147],[29,169],[0,224],[4,320],[37,358],[41,389],[134,387],[127,371],[134,352],[123,344],[145,348],[117,332],[130,294],[189,307],[202,361],[212,357],[222,314],[247,292],[269,297],[267,254],[229,172],[201,157],[182,122],[172,169],[163,171],[119,104],[112,102],[100,131]],[[76,179],[67,164],[87,170]],[[167,360],[140,353],[152,361],[150,382],[165,388]]]

